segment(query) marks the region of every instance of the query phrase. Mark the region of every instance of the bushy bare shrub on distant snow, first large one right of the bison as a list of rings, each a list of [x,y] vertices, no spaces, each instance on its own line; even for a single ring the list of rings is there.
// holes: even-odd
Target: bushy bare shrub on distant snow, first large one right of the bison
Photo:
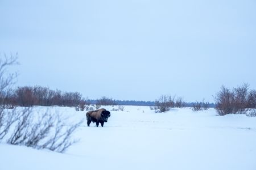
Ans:
[[[175,102],[174,102],[175,96],[168,96],[168,95],[162,95],[159,97],[159,99],[155,100],[155,112],[167,112],[170,111],[171,108],[174,108]]]

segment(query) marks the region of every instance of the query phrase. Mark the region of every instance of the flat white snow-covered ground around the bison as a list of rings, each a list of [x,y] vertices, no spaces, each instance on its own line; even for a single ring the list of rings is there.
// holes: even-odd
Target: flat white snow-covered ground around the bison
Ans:
[[[86,113],[65,107],[51,111],[74,121]],[[2,143],[0,169],[256,169],[256,117],[217,116],[214,109],[155,113],[125,106],[111,111],[104,128],[87,127],[85,120],[74,138],[81,140],[64,154]]]

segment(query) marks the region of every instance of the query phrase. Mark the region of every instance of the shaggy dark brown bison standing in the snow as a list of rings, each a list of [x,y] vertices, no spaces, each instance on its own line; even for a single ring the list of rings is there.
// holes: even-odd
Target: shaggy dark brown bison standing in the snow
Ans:
[[[104,126],[104,122],[108,122],[108,118],[110,117],[110,112],[106,111],[106,109],[98,109],[96,111],[89,111],[86,113],[87,126],[90,126],[90,122],[95,123],[98,127],[98,124],[101,123],[101,126]]]

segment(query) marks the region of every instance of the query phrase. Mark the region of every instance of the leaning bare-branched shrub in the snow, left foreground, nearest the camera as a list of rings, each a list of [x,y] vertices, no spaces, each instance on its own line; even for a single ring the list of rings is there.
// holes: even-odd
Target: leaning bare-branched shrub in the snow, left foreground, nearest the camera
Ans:
[[[15,128],[7,139],[11,145],[64,152],[77,142],[71,139],[71,135],[82,121],[67,125],[68,118],[61,117],[59,113],[47,111],[40,114],[32,108],[25,108],[15,115]]]

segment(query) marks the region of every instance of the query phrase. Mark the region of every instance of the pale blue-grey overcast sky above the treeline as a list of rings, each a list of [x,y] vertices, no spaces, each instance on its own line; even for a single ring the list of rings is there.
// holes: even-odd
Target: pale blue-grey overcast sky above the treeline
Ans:
[[[213,101],[256,89],[256,1],[1,0],[0,52],[18,52],[17,86]]]

